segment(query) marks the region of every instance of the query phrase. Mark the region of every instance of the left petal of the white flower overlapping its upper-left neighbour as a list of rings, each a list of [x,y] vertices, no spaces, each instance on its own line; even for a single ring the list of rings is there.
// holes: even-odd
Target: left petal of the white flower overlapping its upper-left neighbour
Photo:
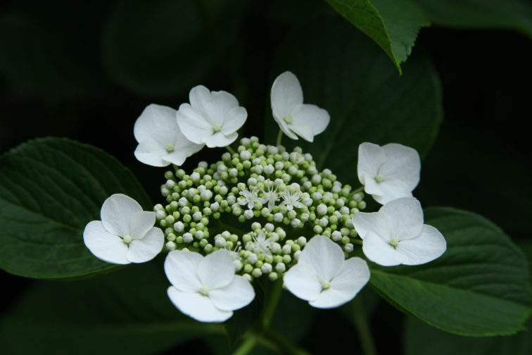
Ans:
[[[205,143],[205,137],[213,134],[213,125],[189,104],[181,104],[176,113],[177,125],[183,135],[196,144]]]

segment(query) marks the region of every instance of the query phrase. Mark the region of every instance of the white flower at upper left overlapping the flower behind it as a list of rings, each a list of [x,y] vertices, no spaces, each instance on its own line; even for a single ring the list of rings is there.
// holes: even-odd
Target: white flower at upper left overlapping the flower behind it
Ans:
[[[246,108],[229,92],[210,92],[203,85],[193,87],[190,104],[181,104],[177,124],[185,137],[207,147],[227,147],[235,141],[236,132],[246,122]]]

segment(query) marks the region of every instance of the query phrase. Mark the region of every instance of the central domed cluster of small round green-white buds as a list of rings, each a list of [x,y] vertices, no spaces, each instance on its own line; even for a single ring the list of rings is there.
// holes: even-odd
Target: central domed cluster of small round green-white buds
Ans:
[[[161,193],[167,205],[154,211],[168,250],[227,249],[249,280],[282,277],[315,235],[331,238],[346,254],[353,251],[352,218],[365,208],[362,193],[342,185],[329,169],[319,172],[299,147],[288,152],[257,137],[240,142],[236,152],[210,166],[202,161],[190,175],[179,168],[165,173]],[[248,220],[251,232],[243,235],[228,226]]]

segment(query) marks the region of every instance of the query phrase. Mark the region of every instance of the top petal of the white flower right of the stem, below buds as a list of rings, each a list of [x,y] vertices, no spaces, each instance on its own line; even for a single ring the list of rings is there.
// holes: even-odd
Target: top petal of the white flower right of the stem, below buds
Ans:
[[[310,239],[299,256],[300,262],[312,265],[320,282],[338,275],[344,259],[341,247],[324,235]]]

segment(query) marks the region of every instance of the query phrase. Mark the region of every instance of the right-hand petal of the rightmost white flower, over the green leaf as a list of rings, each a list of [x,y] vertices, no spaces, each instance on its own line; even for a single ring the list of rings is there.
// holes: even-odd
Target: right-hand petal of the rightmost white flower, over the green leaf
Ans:
[[[440,257],[446,249],[445,238],[431,225],[424,225],[419,237],[403,240],[397,246],[397,251],[405,256],[405,265],[428,263]]]

